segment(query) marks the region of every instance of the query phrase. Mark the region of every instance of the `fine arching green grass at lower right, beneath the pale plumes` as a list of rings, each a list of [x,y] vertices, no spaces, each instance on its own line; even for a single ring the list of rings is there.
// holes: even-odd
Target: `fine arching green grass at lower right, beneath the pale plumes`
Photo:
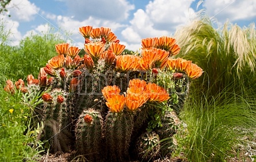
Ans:
[[[188,134],[180,136],[179,144],[190,161],[226,161],[242,139],[241,128],[256,127],[255,100],[235,94],[227,98],[225,93],[211,99],[191,97],[180,117]]]

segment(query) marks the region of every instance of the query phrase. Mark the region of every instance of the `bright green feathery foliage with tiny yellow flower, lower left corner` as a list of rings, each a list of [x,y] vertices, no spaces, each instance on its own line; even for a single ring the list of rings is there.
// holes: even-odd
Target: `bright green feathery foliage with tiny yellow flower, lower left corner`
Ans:
[[[39,101],[39,98],[34,98]],[[22,101],[22,94],[13,96],[0,90],[0,161],[35,160],[39,157],[40,127],[32,127],[32,108]]]

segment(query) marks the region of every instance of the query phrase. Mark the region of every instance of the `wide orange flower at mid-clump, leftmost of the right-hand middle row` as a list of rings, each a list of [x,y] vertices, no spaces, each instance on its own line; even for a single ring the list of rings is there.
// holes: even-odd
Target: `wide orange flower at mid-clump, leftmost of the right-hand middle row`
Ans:
[[[140,57],[131,54],[116,56],[116,68],[123,72],[140,68]]]

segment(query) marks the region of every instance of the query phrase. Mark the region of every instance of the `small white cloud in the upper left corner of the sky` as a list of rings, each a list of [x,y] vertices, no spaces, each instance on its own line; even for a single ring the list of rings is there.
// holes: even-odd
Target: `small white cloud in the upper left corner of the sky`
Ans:
[[[12,0],[6,8],[14,21],[25,22],[34,19],[40,10],[39,7],[36,7],[34,3],[30,3],[28,0]]]

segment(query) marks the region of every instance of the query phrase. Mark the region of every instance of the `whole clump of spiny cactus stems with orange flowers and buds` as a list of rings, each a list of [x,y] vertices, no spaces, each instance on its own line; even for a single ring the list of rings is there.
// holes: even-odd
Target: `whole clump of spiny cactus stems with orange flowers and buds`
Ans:
[[[45,123],[41,139],[52,152],[75,149],[90,161],[150,160],[173,151],[161,149],[161,140],[179,129],[175,112],[202,69],[172,58],[179,46],[171,37],[142,39],[141,50],[125,54],[110,28],[79,31],[84,54],[58,44],[58,55],[40,69],[38,79],[29,75],[27,86],[7,81],[10,93],[41,92],[44,102],[35,110]]]

